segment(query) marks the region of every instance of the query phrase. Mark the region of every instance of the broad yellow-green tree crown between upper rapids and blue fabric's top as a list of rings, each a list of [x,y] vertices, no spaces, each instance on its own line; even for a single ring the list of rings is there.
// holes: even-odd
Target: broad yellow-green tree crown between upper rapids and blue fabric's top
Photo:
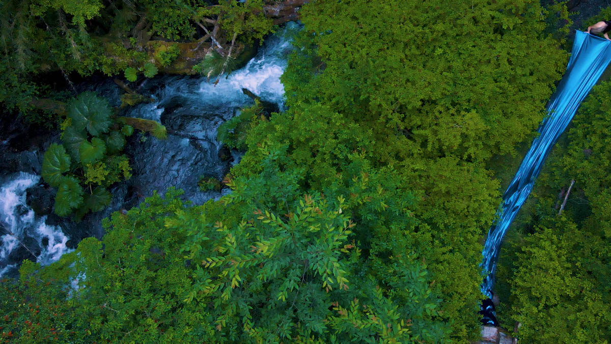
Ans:
[[[283,76],[288,103],[320,101],[379,137],[406,131],[404,145],[426,156],[510,152],[540,123],[568,57],[539,37],[541,13],[530,0],[311,2],[301,11],[309,49]]]

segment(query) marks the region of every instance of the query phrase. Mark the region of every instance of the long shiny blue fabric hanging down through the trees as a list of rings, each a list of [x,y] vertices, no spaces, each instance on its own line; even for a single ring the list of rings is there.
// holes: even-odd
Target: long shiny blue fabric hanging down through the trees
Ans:
[[[484,246],[482,267],[487,276],[481,285],[481,292],[490,297],[494,284],[494,271],[499,255],[500,243],[511,221],[516,217],[522,203],[533,188],[536,177],[552,146],[566,126],[590,89],[611,62],[611,41],[577,31],[571,59],[569,59],[556,92],[547,104],[547,116],[539,127],[540,136],[536,137],[526,153],[516,176],[503,194],[502,208],[497,213],[497,221],[490,228]]]

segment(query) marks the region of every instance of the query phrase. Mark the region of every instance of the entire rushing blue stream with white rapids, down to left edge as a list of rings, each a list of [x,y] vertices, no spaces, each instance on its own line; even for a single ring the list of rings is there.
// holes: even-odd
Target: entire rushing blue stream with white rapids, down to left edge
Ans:
[[[194,203],[216,199],[223,192],[201,191],[198,181],[202,176],[219,180],[228,172],[230,163],[219,157],[222,145],[216,140],[219,125],[236,115],[240,108],[252,104],[244,95],[248,89],[262,100],[284,106],[284,87],[280,75],[287,65],[292,48],[293,33],[300,29],[297,23],[287,23],[284,29],[265,40],[257,56],[246,66],[221,76],[218,83],[205,77],[161,76],[145,79],[137,91],[154,99],[152,103],[123,109],[121,115],[158,120],[167,128],[167,139],[149,136],[130,137],[125,153],[130,156],[133,176],[112,188],[111,205],[104,211],[90,214],[85,221],[74,224],[64,221],[64,232],[73,239],[82,236],[101,236],[101,219],[113,211],[130,208],[153,191],[162,194],[170,186],[183,189],[183,198]],[[120,89],[111,79],[86,82],[79,91],[93,90],[107,98],[112,106],[120,105]],[[7,142],[1,142],[3,145]],[[4,149],[4,148],[2,148]],[[36,152],[28,152],[37,156]],[[239,154],[232,152],[237,157]],[[35,160],[35,159],[33,159]],[[20,166],[18,170],[34,170]],[[37,216],[26,204],[26,189],[38,184],[35,174],[4,171],[0,188],[0,276],[15,272],[24,258],[48,264],[68,251],[68,236],[60,226],[48,225],[47,216]],[[83,228],[87,228],[83,230]]]

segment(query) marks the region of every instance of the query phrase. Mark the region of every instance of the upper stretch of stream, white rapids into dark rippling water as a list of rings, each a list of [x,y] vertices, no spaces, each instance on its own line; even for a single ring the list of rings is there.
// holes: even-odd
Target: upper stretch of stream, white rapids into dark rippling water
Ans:
[[[185,191],[185,199],[194,203],[220,196],[197,188],[200,177],[222,180],[229,171],[229,163],[219,157],[222,144],[216,139],[217,130],[240,108],[253,103],[242,89],[282,109],[284,87],[280,75],[292,48],[292,33],[299,28],[296,23],[287,23],[265,41],[244,68],[227,78],[222,76],[216,84],[213,78],[168,76],[141,85],[139,92],[150,93],[155,101],[135,106],[124,115],[160,121],[167,128],[168,138],[149,137],[130,145],[134,169],[130,184],[138,194],[150,196],[153,190],[163,192],[177,186]]]

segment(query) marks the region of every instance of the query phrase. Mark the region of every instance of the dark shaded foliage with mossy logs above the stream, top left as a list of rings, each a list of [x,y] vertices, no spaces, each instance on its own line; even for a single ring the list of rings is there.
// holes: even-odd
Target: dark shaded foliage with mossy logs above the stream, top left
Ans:
[[[41,80],[49,72],[67,80],[70,73],[125,73],[126,79],[135,81],[140,70],[150,78],[181,53],[177,44],[159,39],[196,41],[200,38],[196,27],[209,27],[213,37],[208,36],[208,40],[213,40],[213,48],[226,60],[235,57],[231,53],[236,40],[252,43],[272,29],[271,18],[263,13],[262,0],[214,2],[2,1],[0,104],[30,114],[35,108],[32,99],[49,97]],[[155,42],[149,42],[155,38]],[[196,46],[200,44],[189,49]],[[184,54],[185,59],[193,59],[192,51]],[[40,115],[27,118],[42,120]]]

